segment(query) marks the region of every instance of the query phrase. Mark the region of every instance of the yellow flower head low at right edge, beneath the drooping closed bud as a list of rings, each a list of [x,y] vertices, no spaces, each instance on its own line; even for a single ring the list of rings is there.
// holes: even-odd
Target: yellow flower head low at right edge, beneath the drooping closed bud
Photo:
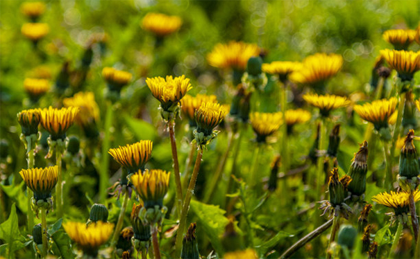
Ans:
[[[380,193],[372,197],[372,201],[378,204],[387,206],[388,208],[394,208],[396,215],[410,212],[410,193],[399,192],[394,193]],[[414,191],[414,202],[419,202],[420,192],[419,190]]]

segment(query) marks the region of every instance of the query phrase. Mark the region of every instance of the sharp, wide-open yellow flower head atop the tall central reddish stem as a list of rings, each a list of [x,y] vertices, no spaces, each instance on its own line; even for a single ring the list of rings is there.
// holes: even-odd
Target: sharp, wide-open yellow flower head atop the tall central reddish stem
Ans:
[[[160,101],[163,111],[174,112],[178,109],[178,102],[192,89],[190,78],[185,75],[173,78],[167,75],[166,79],[156,77],[147,78],[146,84],[152,95]]]

